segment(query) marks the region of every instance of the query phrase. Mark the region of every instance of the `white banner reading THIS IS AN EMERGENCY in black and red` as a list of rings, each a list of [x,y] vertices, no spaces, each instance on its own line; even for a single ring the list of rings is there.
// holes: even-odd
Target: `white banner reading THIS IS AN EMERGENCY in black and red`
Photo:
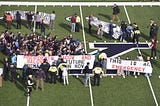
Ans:
[[[121,60],[118,58],[107,58],[107,69],[152,73],[150,61]]]

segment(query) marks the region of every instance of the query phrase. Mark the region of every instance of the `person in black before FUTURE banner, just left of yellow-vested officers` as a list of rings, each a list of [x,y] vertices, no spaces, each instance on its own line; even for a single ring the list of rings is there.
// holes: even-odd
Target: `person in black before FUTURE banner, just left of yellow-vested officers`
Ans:
[[[46,82],[48,82],[48,70],[49,70],[50,64],[47,62],[47,59],[43,59],[43,63],[40,65],[40,68],[45,72]]]

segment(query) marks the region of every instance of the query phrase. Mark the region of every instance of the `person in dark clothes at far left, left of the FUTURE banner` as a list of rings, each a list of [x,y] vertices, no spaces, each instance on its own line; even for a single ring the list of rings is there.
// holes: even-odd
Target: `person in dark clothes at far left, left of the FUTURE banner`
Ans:
[[[9,78],[9,61],[8,58],[6,57],[3,61],[3,70],[4,70],[4,80],[8,80]]]

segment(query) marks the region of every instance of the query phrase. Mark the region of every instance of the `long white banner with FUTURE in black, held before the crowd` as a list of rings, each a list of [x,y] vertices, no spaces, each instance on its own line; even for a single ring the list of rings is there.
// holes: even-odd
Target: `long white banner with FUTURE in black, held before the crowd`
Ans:
[[[58,60],[58,56],[17,56],[17,68],[22,68],[25,63],[30,65],[32,68],[37,68],[43,59],[47,58],[47,61],[52,64]],[[69,69],[83,69],[87,62],[90,63],[90,69],[93,68],[95,56],[94,55],[63,55],[62,58],[67,62]]]

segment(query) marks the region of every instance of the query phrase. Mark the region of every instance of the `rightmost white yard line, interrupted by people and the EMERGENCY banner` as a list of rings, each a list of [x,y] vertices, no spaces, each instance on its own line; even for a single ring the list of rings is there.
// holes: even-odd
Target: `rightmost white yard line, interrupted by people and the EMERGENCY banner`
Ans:
[[[126,13],[128,22],[129,22],[129,24],[130,24],[131,21],[130,21],[130,18],[129,18],[129,15],[128,15],[128,12],[127,12],[127,9],[126,9],[125,6],[124,6],[124,10],[125,10],[125,13]],[[138,47],[138,45],[137,45],[137,47]],[[139,49],[138,49],[138,52],[139,52],[139,54],[141,54],[141,51],[140,51]],[[155,95],[155,93],[154,93],[154,90],[153,90],[153,87],[152,87],[152,84],[151,84],[151,81],[150,81],[149,77],[147,77],[147,80],[148,80],[148,84],[149,84],[149,87],[150,87],[150,89],[151,89],[151,92],[152,92],[152,95],[153,95],[155,104],[156,104],[156,106],[158,106],[158,102],[157,102],[157,99],[156,99],[156,95]]]

